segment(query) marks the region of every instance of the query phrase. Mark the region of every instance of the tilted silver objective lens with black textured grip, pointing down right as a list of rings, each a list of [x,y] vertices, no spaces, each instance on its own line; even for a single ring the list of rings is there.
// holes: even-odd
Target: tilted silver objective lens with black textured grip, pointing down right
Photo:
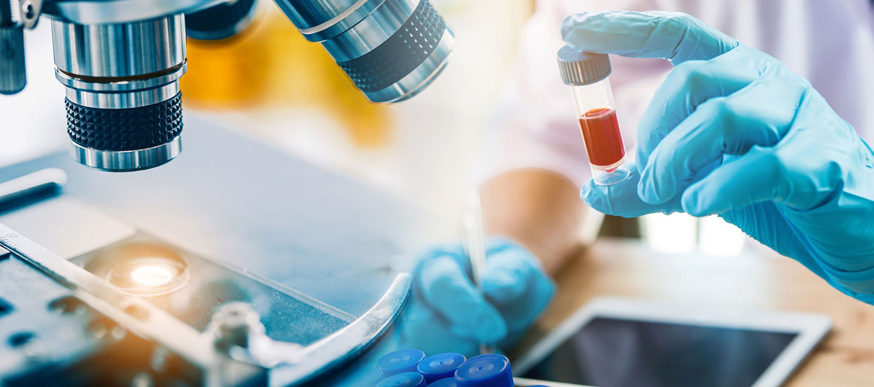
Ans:
[[[428,0],[274,1],[373,102],[398,102],[424,90],[454,44]]]

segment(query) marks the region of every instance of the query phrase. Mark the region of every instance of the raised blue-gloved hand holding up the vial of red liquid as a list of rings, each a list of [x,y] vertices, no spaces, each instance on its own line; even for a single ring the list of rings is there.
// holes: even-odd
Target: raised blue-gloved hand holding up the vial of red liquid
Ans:
[[[638,126],[642,171],[589,181],[586,203],[626,217],[719,214],[874,303],[874,153],[807,80],[678,13],[586,13],[562,33],[586,51],[676,66]]]

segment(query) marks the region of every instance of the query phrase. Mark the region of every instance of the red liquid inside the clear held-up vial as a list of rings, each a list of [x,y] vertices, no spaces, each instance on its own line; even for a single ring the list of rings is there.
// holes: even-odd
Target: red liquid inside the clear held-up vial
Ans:
[[[599,108],[583,113],[579,118],[579,129],[586,142],[586,153],[593,166],[613,166],[607,169],[612,173],[617,162],[625,156],[622,133],[614,109]]]

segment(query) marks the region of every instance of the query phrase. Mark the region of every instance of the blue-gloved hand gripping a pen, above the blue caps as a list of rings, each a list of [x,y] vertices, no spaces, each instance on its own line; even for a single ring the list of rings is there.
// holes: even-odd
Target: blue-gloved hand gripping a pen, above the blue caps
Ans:
[[[478,343],[510,350],[555,289],[534,255],[506,238],[486,241],[480,292],[461,245],[433,248],[413,273],[413,299],[399,319],[400,341],[428,355],[478,354]]]

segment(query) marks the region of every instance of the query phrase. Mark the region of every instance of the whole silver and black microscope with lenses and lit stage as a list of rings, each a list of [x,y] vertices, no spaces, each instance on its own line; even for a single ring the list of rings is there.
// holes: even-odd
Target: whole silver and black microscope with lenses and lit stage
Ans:
[[[421,92],[454,44],[428,0],[275,3],[374,103]],[[0,167],[0,385],[349,385],[388,336],[412,284],[395,263],[433,232],[406,202],[198,117],[186,139],[210,146],[99,172],[180,154],[186,36],[255,8],[0,0],[0,93],[48,17],[73,155]]]

